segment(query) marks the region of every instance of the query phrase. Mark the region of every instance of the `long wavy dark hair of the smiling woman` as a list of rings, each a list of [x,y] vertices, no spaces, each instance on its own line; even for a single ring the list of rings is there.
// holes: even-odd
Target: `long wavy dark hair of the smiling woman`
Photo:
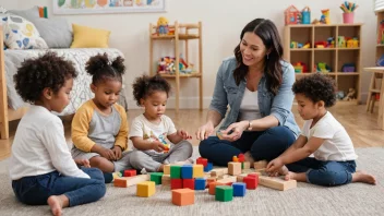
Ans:
[[[242,62],[240,51],[241,40],[245,33],[254,33],[262,40],[268,56],[265,57],[265,75],[267,80],[268,89],[276,95],[283,82],[283,69],[280,60],[283,59],[283,46],[275,24],[265,19],[256,19],[245,25],[240,35],[240,43],[235,48],[235,57],[237,60],[237,68],[233,71],[236,84],[239,85],[244,80],[248,73],[248,67]]]

